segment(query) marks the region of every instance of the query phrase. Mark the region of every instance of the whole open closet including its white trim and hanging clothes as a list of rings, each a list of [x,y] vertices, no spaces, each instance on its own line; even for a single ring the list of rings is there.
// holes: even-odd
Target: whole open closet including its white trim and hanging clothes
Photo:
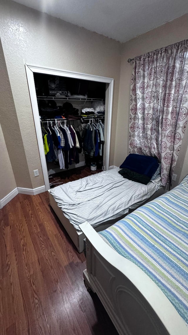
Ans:
[[[108,170],[113,79],[29,65],[26,73],[45,188]]]

